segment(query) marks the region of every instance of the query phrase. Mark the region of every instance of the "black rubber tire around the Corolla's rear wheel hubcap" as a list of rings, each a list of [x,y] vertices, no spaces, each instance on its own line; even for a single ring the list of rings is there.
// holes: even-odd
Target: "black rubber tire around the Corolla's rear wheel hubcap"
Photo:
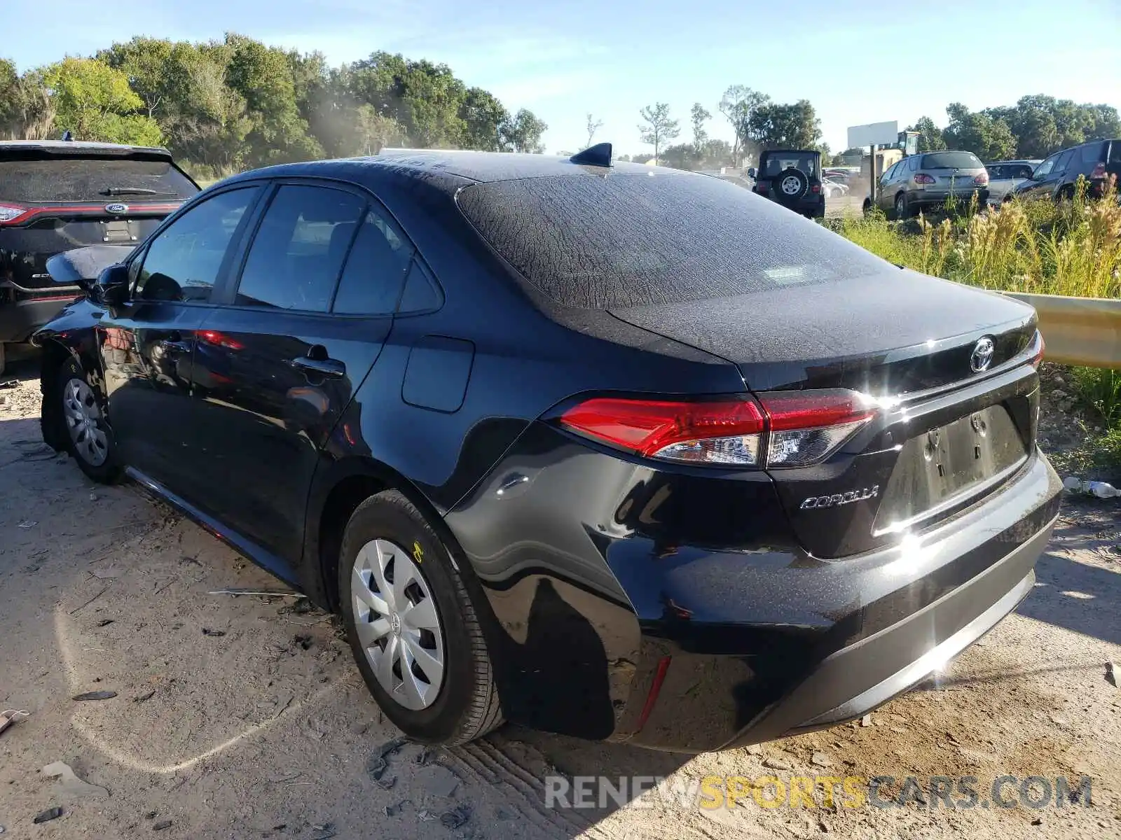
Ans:
[[[432,591],[444,637],[445,673],[435,701],[408,709],[387,692],[359,642],[352,570],[360,549],[373,540],[419,545],[417,567]],[[346,523],[339,558],[339,598],[354,662],[386,716],[409,738],[454,746],[502,725],[502,710],[482,628],[463,578],[424,514],[397,491],[371,496]]]

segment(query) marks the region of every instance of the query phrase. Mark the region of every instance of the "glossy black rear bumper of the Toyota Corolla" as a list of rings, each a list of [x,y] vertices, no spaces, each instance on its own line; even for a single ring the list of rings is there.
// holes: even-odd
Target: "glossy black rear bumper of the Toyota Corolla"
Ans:
[[[700,753],[832,726],[921,680],[1029,590],[1060,493],[1035,454],[910,540],[821,560],[763,475],[663,472],[537,423],[445,521],[508,720]]]

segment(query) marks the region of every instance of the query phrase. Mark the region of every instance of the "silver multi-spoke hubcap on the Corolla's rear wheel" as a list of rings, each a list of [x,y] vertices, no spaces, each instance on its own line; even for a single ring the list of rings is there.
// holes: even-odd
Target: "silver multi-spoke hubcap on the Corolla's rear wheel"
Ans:
[[[413,556],[388,540],[368,542],[354,558],[351,597],[358,640],[381,688],[406,709],[432,706],[444,682],[444,632]]]

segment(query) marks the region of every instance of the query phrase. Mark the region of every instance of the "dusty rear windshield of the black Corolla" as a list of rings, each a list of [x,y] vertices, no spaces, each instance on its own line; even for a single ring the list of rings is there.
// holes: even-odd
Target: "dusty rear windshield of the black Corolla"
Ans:
[[[733,297],[889,263],[720,178],[577,175],[475,184],[458,205],[556,304],[611,309]]]

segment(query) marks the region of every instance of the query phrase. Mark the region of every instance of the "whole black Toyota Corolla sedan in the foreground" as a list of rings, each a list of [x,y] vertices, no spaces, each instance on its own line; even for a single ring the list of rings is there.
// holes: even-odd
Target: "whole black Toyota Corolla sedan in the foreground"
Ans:
[[[337,610],[423,741],[850,720],[1013,609],[1058,512],[1030,307],[610,147],[245,172],[87,286],[45,440]]]

